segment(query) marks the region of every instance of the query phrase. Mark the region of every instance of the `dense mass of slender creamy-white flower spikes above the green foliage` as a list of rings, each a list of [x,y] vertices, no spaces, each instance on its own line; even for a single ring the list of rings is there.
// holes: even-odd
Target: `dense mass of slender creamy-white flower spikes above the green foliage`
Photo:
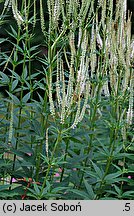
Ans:
[[[26,7],[27,3],[24,2]],[[134,41],[131,39],[131,14],[126,17],[127,1],[124,0],[122,3],[122,0],[118,0],[115,12],[113,11],[113,0],[98,0],[97,8],[94,6],[95,3],[95,0],[47,1],[49,29],[48,34],[46,34],[43,2],[40,0],[41,29],[48,39],[48,62],[50,66],[47,80],[50,111],[54,118],[55,113],[58,113],[61,124],[64,124],[65,119],[71,114],[74,106],[74,95],[77,96],[77,103],[75,104],[77,108],[73,123],[69,128],[75,128],[82,121],[88,104],[88,97],[94,97],[96,94],[98,86],[96,89],[91,89],[90,83],[94,76],[107,78],[100,91],[100,94],[103,92],[106,97],[111,94],[116,97],[120,91],[120,99],[123,99],[126,92],[129,93],[128,110],[126,112],[122,110],[123,114],[120,121],[127,118],[128,125],[132,123]],[[18,25],[24,24],[26,14],[25,16],[20,14],[17,1],[6,0],[4,11],[8,7],[12,8]],[[33,15],[35,25],[36,0],[34,1]],[[98,18],[100,15],[101,18]],[[89,26],[91,26],[90,29]],[[53,33],[56,33],[54,41],[52,40]],[[68,47],[64,45],[61,50],[64,55],[61,55],[60,51],[56,51],[56,49],[64,41],[64,38],[68,41]],[[100,55],[96,52],[98,49]],[[70,52],[69,57],[66,51]],[[54,70],[52,63],[54,58],[56,58],[57,64],[56,103],[52,96]],[[68,79],[65,77],[65,65],[68,67]]]

